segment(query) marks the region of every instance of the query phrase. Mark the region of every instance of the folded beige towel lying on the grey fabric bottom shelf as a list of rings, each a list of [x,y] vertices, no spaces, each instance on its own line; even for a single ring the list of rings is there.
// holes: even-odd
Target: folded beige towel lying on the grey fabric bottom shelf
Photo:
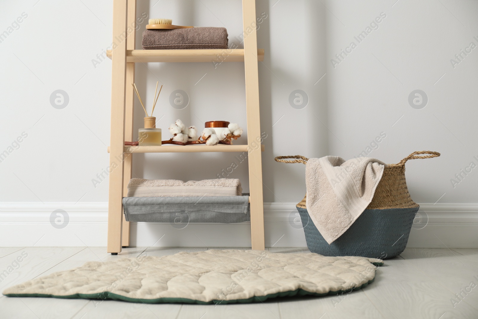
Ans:
[[[240,196],[242,187],[237,178],[205,179],[183,182],[175,179],[132,178],[128,197]]]

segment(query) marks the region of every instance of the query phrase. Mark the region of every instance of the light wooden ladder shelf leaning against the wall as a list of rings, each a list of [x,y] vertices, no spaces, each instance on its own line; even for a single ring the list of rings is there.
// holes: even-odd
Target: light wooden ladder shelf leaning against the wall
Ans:
[[[113,0],[113,39],[128,34],[127,40],[117,43],[108,56],[112,60],[111,82],[111,139],[109,151],[108,253],[118,254],[130,245],[130,222],[123,216],[123,194],[131,178],[132,153],[175,152],[246,152],[249,151],[250,230],[252,249],[264,249],[264,212],[262,199],[261,141],[259,118],[259,78],[257,61],[264,58],[264,50],[257,49],[255,28],[255,0],[242,0],[244,49],[206,50],[135,50],[136,30],[128,34],[129,25],[136,22],[136,0]],[[252,29],[252,32],[250,30]],[[130,29],[131,30],[131,29]],[[118,41],[116,41],[118,42]],[[124,146],[133,139],[133,89],[135,63],[146,62],[211,62],[227,51],[224,62],[244,61],[246,78],[246,111],[248,145],[188,145]],[[263,150],[263,145],[261,145]]]

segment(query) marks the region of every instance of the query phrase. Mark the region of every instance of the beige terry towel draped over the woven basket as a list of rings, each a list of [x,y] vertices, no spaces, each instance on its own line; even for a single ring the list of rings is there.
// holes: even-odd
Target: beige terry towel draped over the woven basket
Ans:
[[[325,156],[307,161],[307,211],[329,244],[369,206],[385,165],[369,157],[345,161],[338,156]]]

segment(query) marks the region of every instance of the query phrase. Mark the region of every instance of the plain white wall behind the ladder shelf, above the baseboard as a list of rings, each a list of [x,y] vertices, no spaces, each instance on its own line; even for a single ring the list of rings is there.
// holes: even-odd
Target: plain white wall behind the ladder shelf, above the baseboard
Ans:
[[[0,163],[0,201],[106,202],[108,180],[94,187],[92,179],[109,165],[111,62],[95,67],[92,59],[111,43],[112,1],[0,0],[0,6],[0,33],[12,31],[0,43],[0,152],[12,151]],[[19,27],[9,29],[23,12],[28,16]],[[242,30],[240,0],[138,0],[137,12],[175,24],[225,26],[230,44]],[[478,158],[478,49],[459,64],[450,63],[470,42],[478,45],[477,1],[257,0],[257,15],[262,12],[267,14],[258,31],[258,46],[266,50],[259,63],[261,131],[268,136],[265,202],[298,202],[305,192],[304,165],[276,163],[275,156],[350,158],[385,132],[369,156],[396,163],[417,150],[442,153],[407,164],[415,201],[477,203],[478,169],[455,187],[450,181],[470,162],[478,164],[473,157]],[[381,12],[386,17],[378,29],[358,43],[354,36]],[[331,59],[352,41],[357,47],[334,67]],[[149,110],[155,82],[164,85],[155,116],[162,117],[157,126],[165,136],[177,118],[196,126],[211,120],[246,125],[242,63],[137,64],[136,79]],[[61,110],[49,100],[57,89],[70,99]],[[190,97],[184,110],[169,105],[176,89]],[[288,101],[296,89],[309,99],[301,110]],[[415,89],[428,96],[423,109],[408,103]],[[139,103],[135,107],[139,128],[143,114]],[[18,149],[9,149],[22,132],[28,136]],[[133,174],[214,178],[235,155],[135,154]],[[240,178],[248,190],[247,164],[229,177]]]

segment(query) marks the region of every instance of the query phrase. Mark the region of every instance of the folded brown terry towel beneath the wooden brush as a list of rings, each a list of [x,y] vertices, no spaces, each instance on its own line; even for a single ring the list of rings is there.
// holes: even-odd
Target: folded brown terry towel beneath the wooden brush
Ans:
[[[197,27],[173,30],[144,30],[143,50],[227,49],[226,28]]]

